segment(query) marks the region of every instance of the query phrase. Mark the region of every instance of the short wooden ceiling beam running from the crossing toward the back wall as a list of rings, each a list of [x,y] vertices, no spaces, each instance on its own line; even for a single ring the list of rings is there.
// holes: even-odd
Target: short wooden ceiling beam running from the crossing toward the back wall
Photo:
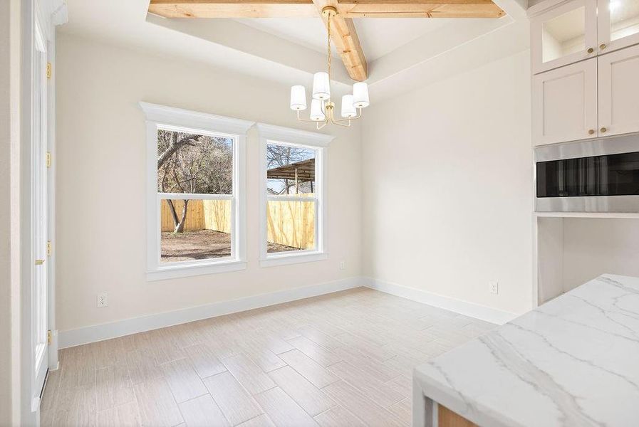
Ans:
[[[318,13],[322,15],[324,25],[328,27],[328,16],[324,16],[321,11],[326,6],[339,6],[337,0],[313,0]],[[346,67],[346,72],[355,81],[362,82],[368,78],[368,63],[364,56],[364,51],[360,45],[360,38],[355,31],[353,19],[346,18],[342,14],[331,18],[331,41],[337,48],[342,62]]]

